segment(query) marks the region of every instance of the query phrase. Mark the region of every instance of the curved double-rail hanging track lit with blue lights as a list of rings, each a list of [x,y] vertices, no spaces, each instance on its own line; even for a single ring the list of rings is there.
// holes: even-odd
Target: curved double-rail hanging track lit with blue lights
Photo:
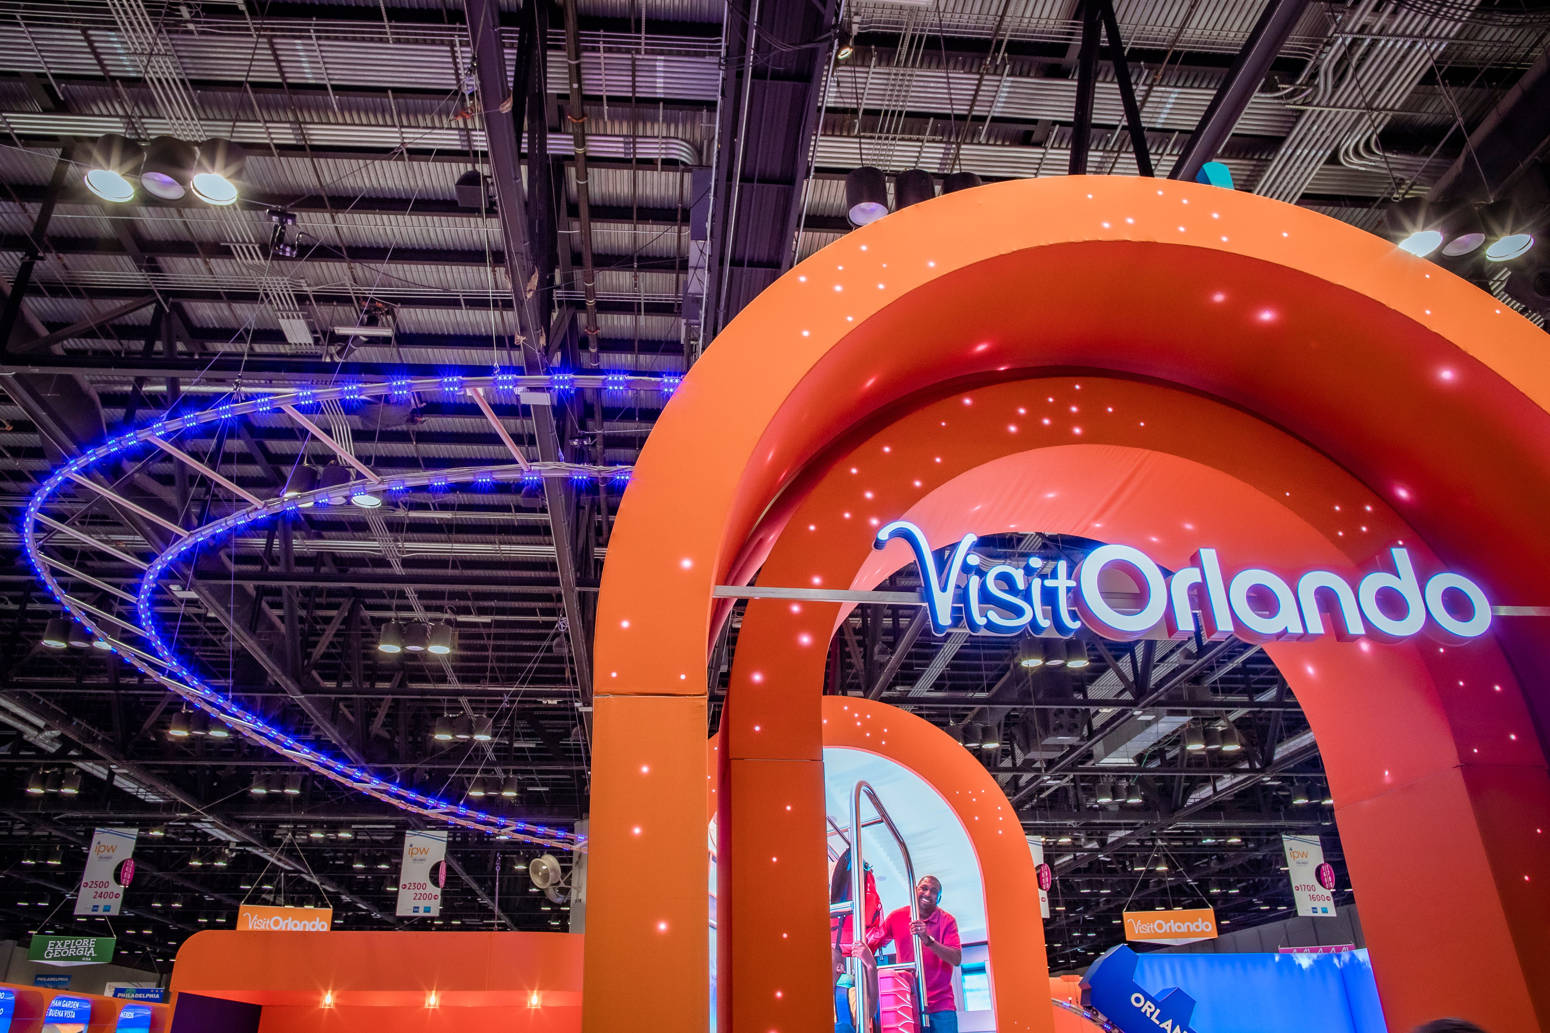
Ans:
[[[608,378],[609,390],[620,390],[618,375],[611,375]],[[677,387],[680,378],[648,378],[648,376],[629,376],[628,384],[623,389],[637,390],[660,390],[663,395],[671,395]],[[167,664],[167,669],[177,675],[169,677],[161,671],[157,671],[147,661],[152,658],[147,655],[144,660],[136,655],[136,650],[126,647],[118,649],[113,646],[113,638],[105,635],[98,623],[93,619],[91,607],[71,598],[59,584],[59,581],[51,573],[48,564],[42,561],[42,551],[37,542],[37,519],[42,516],[43,506],[50,502],[59,488],[70,483],[73,474],[87,475],[90,469],[105,460],[115,458],[119,454],[143,448],[146,444],[153,444],[152,438],[169,438],[180,434],[184,429],[197,427],[206,423],[219,423],[222,420],[229,420],[250,412],[267,414],[276,410],[282,404],[290,404],[294,407],[316,406],[324,401],[344,398],[344,400],[363,400],[377,396],[408,396],[411,392],[465,392],[476,387],[494,387],[498,390],[515,390],[521,387],[550,387],[552,390],[563,392],[574,387],[603,387],[603,376],[577,376],[572,373],[553,373],[549,376],[525,376],[512,372],[498,370],[491,376],[477,378],[420,378],[420,379],[395,379],[381,381],[370,384],[344,384],[339,387],[327,389],[302,389],[290,395],[268,395],[260,396],[253,401],[240,403],[222,403],[209,409],[198,412],[191,412],[183,417],[172,420],[160,420],[147,427],[121,434],[115,438],[108,438],[102,444],[78,455],[68,463],[54,469],[53,474],[42,483],[42,486],[33,492],[33,497],[26,505],[26,519],[23,520],[22,544],[26,553],[26,561],[33,567],[34,576],[48,589],[50,595],[65,609],[65,612],[79,621],[93,635],[101,635],[110,643],[110,650],[124,657],[127,663],[135,666],[138,671],[153,678],[167,689],[177,692],[183,698],[189,700],[200,709],[209,712],[215,719],[237,728],[245,736],[254,742],[268,746],[270,750],[279,753],[312,771],[322,774],[324,777],[333,779],[341,785],[358,790],[369,796],[374,796],[383,802],[392,804],[401,810],[408,810],[426,818],[446,821],[451,824],[463,825],[490,835],[507,836],[513,839],[524,839],[529,843],[536,843],[541,846],[549,846],[561,850],[586,850],[586,838],[577,836],[563,829],[550,829],[547,825],[533,825],[522,821],[513,821],[502,818],[499,815],[490,815],[480,810],[473,810],[462,807],[460,804],[448,804],[446,801],[436,799],[434,796],[426,796],[414,790],[405,788],[397,782],[389,782],[377,777],[364,768],[358,768],[352,764],[346,764],[324,753],[319,753],[304,742],[293,739],[285,731],[274,728],[264,719],[246,711],[239,703],[231,698],[223,697],[219,691],[205,685],[188,664],[172,650],[167,641],[163,638],[160,629],[157,627],[152,596],[157,589],[157,581],[167,568],[177,562],[180,558],[188,554],[191,550],[202,545],[212,544],[219,539],[226,537],[251,523],[274,517],[281,513],[290,513],[302,508],[305,503],[316,502],[322,497],[326,489],[318,489],[308,494],[294,496],[291,499],[274,499],[265,502],[260,506],[250,506],[246,510],[237,511],[212,523],[191,531],[184,537],[178,539],[167,551],[157,556],[146,573],[143,575],[136,596],[136,613],[140,616],[140,633],[150,641],[153,650]],[[521,471],[516,466],[470,466],[460,469],[443,469],[443,471],[423,471],[415,474],[408,474],[397,477],[381,488],[389,492],[408,491],[414,486],[445,486],[451,483],[467,483],[474,482],[479,485],[490,485],[493,482],[518,482],[532,483],[535,479],[542,477],[572,477],[583,480],[612,480],[614,483],[628,483],[629,468],[628,466],[584,466],[577,463],[533,463],[529,471]]]

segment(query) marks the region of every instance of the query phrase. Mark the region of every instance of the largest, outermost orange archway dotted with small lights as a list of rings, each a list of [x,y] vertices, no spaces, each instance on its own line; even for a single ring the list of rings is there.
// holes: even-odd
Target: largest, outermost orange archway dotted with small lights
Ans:
[[[685,379],[611,542],[597,630],[587,1028],[628,1021],[668,985],[682,993],[654,1025],[705,1028],[705,897],[693,883],[663,887],[657,873],[704,858],[711,587],[746,579],[770,553],[835,440],[885,426],[956,378],[1059,367],[1155,378],[1304,441],[1494,601],[1531,606],[1550,599],[1550,542],[1538,528],[1550,502],[1550,358],[1539,341],[1490,296],[1381,240],[1262,198],[1147,180],[944,197],[783,277]],[[1538,674],[1534,619],[1499,635],[1524,680]],[[735,692],[733,712],[739,705]],[[1477,729],[1507,734],[1490,714]],[[808,777],[789,760],[752,764]],[[1542,756],[1517,767],[1538,782],[1452,770],[1474,813],[1494,815],[1479,835],[1497,906],[1542,926],[1550,875],[1533,870],[1544,852],[1525,832],[1545,812],[1534,788]],[[756,781],[733,779],[732,798],[744,785]],[[1410,777],[1380,791],[1429,790]],[[744,801],[724,794],[728,805]],[[1404,825],[1367,821],[1395,850]],[[1514,873],[1530,878],[1514,884]],[[1410,889],[1407,906],[1424,906],[1426,887]],[[1502,935],[1493,962],[1505,952],[1527,983],[1502,1014],[1542,1028],[1542,980],[1524,974],[1542,971],[1544,934]],[[804,952],[790,943],[769,963],[795,966]],[[1397,979],[1386,1004],[1412,991],[1418,1008],[1431,1004],[1426,973]],[[797,1028],[773,1004],[749,1016]]]

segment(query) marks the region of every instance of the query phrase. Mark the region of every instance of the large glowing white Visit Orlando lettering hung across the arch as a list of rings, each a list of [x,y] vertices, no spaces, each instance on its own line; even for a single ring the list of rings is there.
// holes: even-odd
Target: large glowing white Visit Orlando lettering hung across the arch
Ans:
[[[973,633],[1070,637],[1085,624],[1104,638],[1133,641],[1162,624],[1169,637],[1187,638],[1197,607],[1206,638],[1237,635],[1251,643],[1321,638],[1330,633],[1325,610],[1342,643],[1362,635],[1397,643],[1421,630],[1438,641],[1463,643],[1491,627],[1491,604],[1477,584],[1443,571],[1423,587],[1404,548],[1389,550],[1393,573],[1375,571],[1352,585],[1328,570],[1310,570],[1293,585],[1256,567],[1229,581],[1214,548],[1198,550],[1192,565],[1164,576],[1139,548],[1099,545],[1070,575],[1062,559],[1051,576],[1040,576],[1043,561],[1037,556],[1017,567],[986,564],[973,551],[976,534],[966,534],[939,564],[925,533],[907,520],[879,530],[873,547],[884,548],[896,537],[914,551],[921,595],[938,635],[963,624]],[[1141,589],[1135,612],[1116,609],[1099,592],[1107,567]]]

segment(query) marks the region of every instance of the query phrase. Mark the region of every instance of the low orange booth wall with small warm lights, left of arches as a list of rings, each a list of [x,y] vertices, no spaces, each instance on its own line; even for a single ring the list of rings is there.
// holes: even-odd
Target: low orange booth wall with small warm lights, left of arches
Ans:
[[[575,1033],[581,937],[569,932],[197,932],[177,994],[264,1007],[260,1033]]]

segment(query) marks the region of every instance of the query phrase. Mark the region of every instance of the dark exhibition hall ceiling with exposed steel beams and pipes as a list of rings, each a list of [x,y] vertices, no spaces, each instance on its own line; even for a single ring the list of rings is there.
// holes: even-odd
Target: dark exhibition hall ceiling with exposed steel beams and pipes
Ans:
[[[1550,6],[1111,14],[1121,45],[1108,29],[1083,50],[1077,0],[6,5],[0,929],[81,928],[67,894],[102,825],[141,833],[124,963],[164,966],[250,897],[330,903],[346,929],[411,921],[386,883],[429,819],[219,734],[158,683],[177,671],[146,619],[214,691],[360,777],[575,832],[628,471],[738,311],[866,217],[859,167],[884,173],[887,217],[911,169],[933,189],[1082,164],[1166,177],[1218,125],[1204,156],[1235,189],[1378,234],[1421,201],[1449,232],[1538,232]],[[1538,322],[1550,308],[1533,256],[1438,260]],[[288,392],[316,404],[189,426],[28,513],[107,437]],[[532,469],[488,472],[512,463]],[[288,492],[308,503],[202,542],[140,595],[150,558],[234,497]],[[1018,564],[1094,545],[987,539]],[[50,626],[64,612],[31,562],[115,649]],[[1056,867],[1056,970],[1118,942],[1125,904],[1286,917],[1282,833],[1322,835],[1341,869],[1318,745],[1259,646],[1083,637],[1023,666],[1009,640],[922,633],[918,613],[857,607],[829,689],[913,709],[997,774]],[[707,731],[739,615],[711,650]],[[567,926],[525,863],[570,855],[524,836],[454,827],[436,928]]]

